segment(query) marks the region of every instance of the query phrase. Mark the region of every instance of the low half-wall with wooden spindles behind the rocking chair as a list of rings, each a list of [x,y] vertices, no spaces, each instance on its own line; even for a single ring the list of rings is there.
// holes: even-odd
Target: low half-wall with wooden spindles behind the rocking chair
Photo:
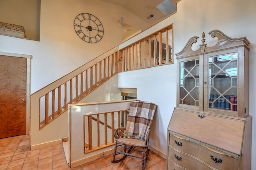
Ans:
[[[68,105],[70,167],[113,153],[114,130],[126,127],[132,101],[136,100]]]

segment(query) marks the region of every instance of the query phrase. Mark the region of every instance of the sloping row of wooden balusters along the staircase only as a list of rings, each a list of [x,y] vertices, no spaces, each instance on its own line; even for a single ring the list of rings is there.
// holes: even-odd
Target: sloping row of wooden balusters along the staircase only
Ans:
[[[68,109],[68,104],[79,102],[114,76],[118,70],[117,60],[118,51],[115,51],[41,96],[39,129],[64,113]]]

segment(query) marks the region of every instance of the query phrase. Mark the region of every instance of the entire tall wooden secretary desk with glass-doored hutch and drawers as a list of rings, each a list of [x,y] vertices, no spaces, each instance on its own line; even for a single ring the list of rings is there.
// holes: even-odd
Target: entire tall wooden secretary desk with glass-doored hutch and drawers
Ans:
[[[192,37],[177,53],[177,107],[168,126],[168,170],[250,170],[251,119],[248,114],[246,37],[219,30],[208,47],[191,49]],[[188,48],[189,47],[189,48]]]

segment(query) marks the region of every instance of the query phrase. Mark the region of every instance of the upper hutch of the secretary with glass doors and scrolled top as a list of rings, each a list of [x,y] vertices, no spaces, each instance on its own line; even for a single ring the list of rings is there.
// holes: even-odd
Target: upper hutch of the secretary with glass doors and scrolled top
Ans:
[[[198,38],[192,37],[176,54],[177,107],[246,117],[250,43],[246,37],[234,39],[218,30],[209,34],[218,38],[215,46],[203,43],[192,51],[188,47]]]

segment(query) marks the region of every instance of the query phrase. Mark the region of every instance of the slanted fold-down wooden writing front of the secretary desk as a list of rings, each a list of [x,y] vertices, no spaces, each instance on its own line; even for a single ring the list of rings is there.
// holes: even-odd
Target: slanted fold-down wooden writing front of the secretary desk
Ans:
[[[168,129],[237,155],[241,154],[244,121],[175,109]]]

